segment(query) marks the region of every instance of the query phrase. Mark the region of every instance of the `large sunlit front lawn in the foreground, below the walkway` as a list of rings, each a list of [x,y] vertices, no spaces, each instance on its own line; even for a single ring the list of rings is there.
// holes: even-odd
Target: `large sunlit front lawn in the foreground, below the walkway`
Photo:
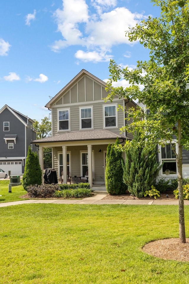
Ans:
[[[141,251],[178,237],[178,206],[22,204],[0,220],[1,284],[189,283],[187,262]]]

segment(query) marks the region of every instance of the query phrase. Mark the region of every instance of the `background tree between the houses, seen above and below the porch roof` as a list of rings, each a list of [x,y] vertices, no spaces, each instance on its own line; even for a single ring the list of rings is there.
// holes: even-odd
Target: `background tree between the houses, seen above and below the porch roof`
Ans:
[[[48,117],[44,117],[39,123],[37,120],[34,120],[33,127],[38,131],[37,139],[46,138],[51,135],[51,122]],[[43,148],[43,165],[44,169],[52,167],[52,150],[51,148]]]

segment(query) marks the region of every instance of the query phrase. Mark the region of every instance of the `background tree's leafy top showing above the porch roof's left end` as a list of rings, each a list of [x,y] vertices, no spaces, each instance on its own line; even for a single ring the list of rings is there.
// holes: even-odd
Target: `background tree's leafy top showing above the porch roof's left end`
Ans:
[[[41,123],[34,119],[33,127],[38,131],[37,139],[46,138],[51,135],[51,122],[48,117],[44,117]]]

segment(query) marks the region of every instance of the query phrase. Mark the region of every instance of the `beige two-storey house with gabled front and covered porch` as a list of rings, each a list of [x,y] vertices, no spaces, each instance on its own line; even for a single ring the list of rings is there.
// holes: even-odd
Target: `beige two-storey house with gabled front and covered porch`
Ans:
[[[63,182],[67,183],[67,172],[74,177],[85,176],[89,183],[105,183],[105,156],[109,143],[116,138],[124,143],[132,139],[129,133],[120,134],[120,128],[128,121],[123,108],[137,107],[128,99],[104,102],[107,96],[106,83],[86,70],[77,74],[46,107],[51,110],[52,136],[35,140],[39,144],[40,166],[43,169],[43,147],[52,148],[52,167]]]

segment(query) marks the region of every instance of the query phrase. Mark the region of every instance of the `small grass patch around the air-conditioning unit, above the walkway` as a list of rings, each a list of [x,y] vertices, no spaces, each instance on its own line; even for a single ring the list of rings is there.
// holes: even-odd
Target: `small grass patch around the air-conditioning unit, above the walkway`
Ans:
[[[0,203],[25,200],[20,198],[20,196],[26,194],[22,185],[12,186],[12,193],[9,193],[10,180],[0,180]],[[28,199],[28,198],[26,198]],[[0,282],[1,283],[1,282]]]

